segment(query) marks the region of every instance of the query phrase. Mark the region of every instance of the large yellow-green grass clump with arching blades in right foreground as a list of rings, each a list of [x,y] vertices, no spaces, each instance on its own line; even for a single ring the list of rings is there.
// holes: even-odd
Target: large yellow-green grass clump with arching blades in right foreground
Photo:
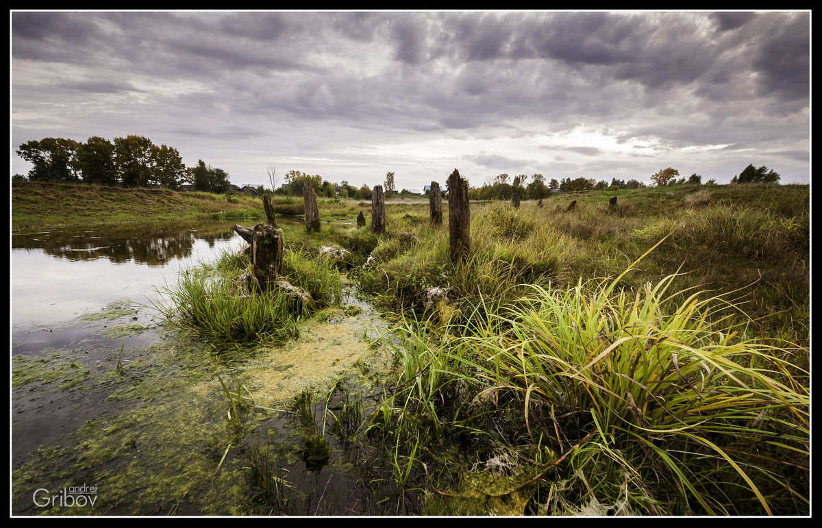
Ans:
[[[710,322],[722,296],[672,305],[674,277],[641,291],[617,291],[616,280],[535,286],[449,355],[473,350],[484,385],[475,400],[520,394],[533,438],[553,436],[562,452],[590,435],[607,452],[602,463],[638,478],[668,512],[806,511],[806,384],[783,350]],[[596,467],[587,481],[613,474]]]

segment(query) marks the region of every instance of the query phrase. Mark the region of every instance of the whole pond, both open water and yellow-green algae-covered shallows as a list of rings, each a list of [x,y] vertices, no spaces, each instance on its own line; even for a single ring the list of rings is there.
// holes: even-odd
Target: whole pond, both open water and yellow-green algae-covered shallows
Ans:
[[[288,436],[284,398],[361,364],[372,349],[363,337],[383,323],[349,294],[298,340],[257,346],[231,368],[214,345],[169,331],[159,293],[178,272],[243,248],[233,223],[12,235],[13,515],[266,513],[249,507],[259,501],[249,497],[248,454]],[[252,392],[255,408],[243,418],[256,420],[254,433],[230,427],[215,373]],[[346,488],[343,473],[325,471],[321,479],[302,468],[301,478]],[[335,512],[335,493],[336,506],[309,492],[280,512]]]

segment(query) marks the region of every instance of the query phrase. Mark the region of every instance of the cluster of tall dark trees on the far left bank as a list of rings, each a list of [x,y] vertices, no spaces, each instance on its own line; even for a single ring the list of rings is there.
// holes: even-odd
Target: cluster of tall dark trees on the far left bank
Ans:
[[[129,135],[109,141],[90,137],[85,143],[62,137],[26,141],[16,151],[32,164],[27,176],[33,182],[92,183],[123,187],[164,187],[178,190],[191,183],[195,191],[227,192],[229,174],[198,160],[182,163],[177,149],[155,145],[148,137]]]

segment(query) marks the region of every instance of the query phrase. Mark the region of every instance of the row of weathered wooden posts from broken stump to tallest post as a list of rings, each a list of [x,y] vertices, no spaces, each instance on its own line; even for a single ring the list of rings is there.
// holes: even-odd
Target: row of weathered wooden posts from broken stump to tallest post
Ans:
[[[468,199],[468,181],[459,175],[459,171],[448,177],[448,229],[449,254],[452,262],[464,262],[471,248],[471,210]],[[316,192],[311,183],[306,182],[302,188],[305,208],[306,230],[321,231],[320,212],[316,205]],[[442,192],[440,184],[431,183],[429,196],[432,225],[442,224]],[[251,257],[254,275],[260,285],[268,286],[275,282],[283,271],[283,232],[277,229],[274,203],[270,195],[263,197],[263,212],[266,221],[248,229],[234,225],[234,231],[251,244]],[[357,217],[357,227],[366,223],[363,211]],[[386,231],[386,196],[381,185],[372,191],[371,227],[375,233]]]

